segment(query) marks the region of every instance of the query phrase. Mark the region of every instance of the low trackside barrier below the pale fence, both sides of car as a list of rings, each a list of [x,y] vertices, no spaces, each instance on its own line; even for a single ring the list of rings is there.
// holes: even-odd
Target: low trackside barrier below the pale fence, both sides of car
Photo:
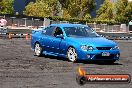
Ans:
[[[1,38],[31,38],[32,30],[27,29],[7,29],[5,32],[0,33]],[[106,37],[111,40],[132,40],[132,34],[129,33],[104,33],[97,32],[102,37]]]

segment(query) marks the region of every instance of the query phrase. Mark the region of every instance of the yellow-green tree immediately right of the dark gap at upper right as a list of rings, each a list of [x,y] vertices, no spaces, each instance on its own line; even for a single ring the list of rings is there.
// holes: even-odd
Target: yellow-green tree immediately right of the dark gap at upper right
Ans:
[[[114,18],[113,3],[110,0],[105,0],[102,6],[97,11],[97,19],[112,20]]]

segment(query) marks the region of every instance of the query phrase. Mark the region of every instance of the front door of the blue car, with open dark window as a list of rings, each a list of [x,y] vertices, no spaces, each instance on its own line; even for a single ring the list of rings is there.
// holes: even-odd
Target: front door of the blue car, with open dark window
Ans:
[[[51,41],[50,47],[55,54],[61,54],[60,44],[63,41],[62,38],[57,38],[57,35],[63,35],[62,29],[60,27],[56,27],[53,33],[53,40]]]

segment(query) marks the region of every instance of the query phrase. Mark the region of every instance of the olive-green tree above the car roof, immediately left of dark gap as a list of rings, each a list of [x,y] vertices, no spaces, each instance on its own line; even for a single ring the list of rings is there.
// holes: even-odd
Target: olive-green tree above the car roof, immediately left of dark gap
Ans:
[[[94,0],[69,0],[67,11],[71,17],[84,18],[95,8]]]

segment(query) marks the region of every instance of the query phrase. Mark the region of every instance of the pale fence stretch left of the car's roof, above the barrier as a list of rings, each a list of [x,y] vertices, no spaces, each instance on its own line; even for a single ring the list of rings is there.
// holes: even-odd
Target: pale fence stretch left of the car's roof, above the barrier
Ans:
[[[17,18],[5,17],[8,27],[25,27],[25,28],[38,28],[40,26],[47,26],[50,24],[48,19],[42,20],[38,18]]]

